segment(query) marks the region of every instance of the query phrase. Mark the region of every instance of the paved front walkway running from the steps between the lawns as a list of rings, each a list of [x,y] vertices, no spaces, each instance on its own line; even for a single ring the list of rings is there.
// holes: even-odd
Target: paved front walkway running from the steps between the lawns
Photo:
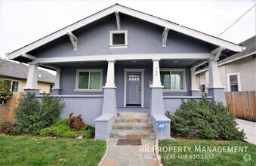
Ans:
[[[141,139],[142,146],[119,146],[117,141],[118,139],[109,139],[109,152],[103,161],[103,166],[159,165],[153,149],[156,140]],[[147,151],[145,147],[149,147],[149,150]]]

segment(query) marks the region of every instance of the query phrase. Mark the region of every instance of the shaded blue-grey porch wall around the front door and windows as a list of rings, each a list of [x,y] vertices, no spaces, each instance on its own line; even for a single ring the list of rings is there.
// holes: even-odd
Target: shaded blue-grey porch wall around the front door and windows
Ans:
[[[171,65],[162,65],[161,68],[172,68]],[[164,96],[190,96],[190,69],[188,67],[176,67],[185,69],[186,89],[183,93],[164,92]],[[76,92],[76,69],[103,69],[103,86],[106,83],[107,63],[76,63],[74,65],[63,66],[60,77],[60,95],[88,95],[103,94],[102,92]],[[115,80],[116,80],[116,103],[117,107],[124,106],[124,75],[125,69],[144,69],[144,107],[150,108],[150,88],[149,81],[153,81],[153,63],[151,60],[137,61],[117,61],[115,64]]]

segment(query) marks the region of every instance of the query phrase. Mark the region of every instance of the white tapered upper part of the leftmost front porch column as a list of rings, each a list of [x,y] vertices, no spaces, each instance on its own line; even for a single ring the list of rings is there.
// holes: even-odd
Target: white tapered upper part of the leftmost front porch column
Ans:
[[[29,63],[29,73],[24,88],[25,93],[26,91],[34,91],[35,94],[39,94],[39,87],[37,85],[38,78],[38,64],[34,62]]]

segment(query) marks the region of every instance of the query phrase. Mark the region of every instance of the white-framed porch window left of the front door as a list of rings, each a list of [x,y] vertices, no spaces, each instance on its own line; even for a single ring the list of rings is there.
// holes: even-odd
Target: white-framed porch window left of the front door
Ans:
[[[77,69],[76,91],[102,90],[102,69]]]

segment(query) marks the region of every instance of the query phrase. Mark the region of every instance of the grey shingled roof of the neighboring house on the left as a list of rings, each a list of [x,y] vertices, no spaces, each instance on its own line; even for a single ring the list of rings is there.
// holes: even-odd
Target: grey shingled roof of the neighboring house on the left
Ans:
[[[28,73],[29,66],[26,66],[23,63],[17,63],[0,58],[0,75],[26,79]],[[40,75],[39,81],[44,81],[48,83],[54,83],[55,81],[55,75],[52,75],[50,72],[46,72],[42,69],[39,69],[38,74]]]

